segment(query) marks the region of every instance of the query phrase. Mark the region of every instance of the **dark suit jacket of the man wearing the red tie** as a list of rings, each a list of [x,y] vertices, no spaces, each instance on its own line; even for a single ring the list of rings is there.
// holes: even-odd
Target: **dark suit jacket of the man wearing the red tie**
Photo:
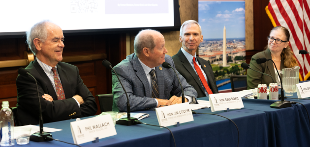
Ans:
[[[172,59],[174,61],[174,64],[176,65],[177,71],[181,75],[183,75],[183,77],[185,77],[187,83],[189,85],[193,86],[195,88],[195,90],[197,91],[197,93],[198,93],[197,98],[206,97],[206,94],[205,94],[203,87],[201,85],[201,82],[199,80],[199,76],[195,73],[194,69],[192,68],[192,66],[188,62],[188,60],[185,57],[182,50],[180,49],[177,54],[172,56]],[[217,83],[216,83],[216,80],[214,77],[214,73],[212,71],[211,64],[208,61],[206,61],[206,60],[204,60],[198,56],[197,56],[197,61],[199,62],[203,71],[207,75],[208,81],[210,83],[209,87],[212,90],[212,93],[217,94],[218,93]],[[204,67],[204,65],[206,67]]]

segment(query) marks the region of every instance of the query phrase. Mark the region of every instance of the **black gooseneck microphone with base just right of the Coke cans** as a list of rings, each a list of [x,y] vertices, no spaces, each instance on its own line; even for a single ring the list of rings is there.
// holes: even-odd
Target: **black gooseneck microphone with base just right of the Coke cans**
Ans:
[[[267,62],[267,60],[271,60],[274,63],[275,67],[277,68],[275,62],[272,59],[258,58],[258,59],[256,59],[256,63],[257,64],[265,63],[265,62]],[[280,77],[278,70],[276,70],[276,71],[278,73],[278,76]],[[270,107],[271,108],[278,108],[278,109],[279,108],[291,107],[292,104],[294,104],[294,103],[292,103],[291,101],[288,101],[288,100],[284,100],[284,91],[283,91],[282,79],[281,78],[279,78],[279,79],[280,79],[281,87],[282,87],[281,88],[281,101],[274,102],[273,104],[270,105]]]

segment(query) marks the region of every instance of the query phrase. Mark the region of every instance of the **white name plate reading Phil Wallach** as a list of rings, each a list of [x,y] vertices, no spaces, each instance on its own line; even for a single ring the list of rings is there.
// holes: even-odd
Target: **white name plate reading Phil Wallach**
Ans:
[[[74,144],[83,144],[116,135],[114,123],[110,115],[93,117],[81,121],[71,122],[71,133]]]

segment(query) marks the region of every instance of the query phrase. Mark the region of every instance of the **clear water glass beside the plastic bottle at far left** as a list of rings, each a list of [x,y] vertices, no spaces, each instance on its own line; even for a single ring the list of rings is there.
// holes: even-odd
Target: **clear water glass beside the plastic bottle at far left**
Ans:
[[[31,127],[15,127],[14,134],[18,145],[29,144]]]

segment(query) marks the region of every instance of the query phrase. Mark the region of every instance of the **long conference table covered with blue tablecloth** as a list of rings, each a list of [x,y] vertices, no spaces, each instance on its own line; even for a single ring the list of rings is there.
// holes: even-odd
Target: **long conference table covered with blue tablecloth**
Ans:
[[[280,91],[280,90],[279,90]],[[310,111],[310,100],[285,100],[304,104]],[[198,98],[209,100],[207,97]],[[239,147],[310,147],[310,122],[306,109],[301,104],[292,107],[275,109],[270,104],[276,100],[243,98],[244,108],[228,112],[211,112],[211,108],[195,110],[198,113],[213,113],[234,121],[240,133]],[[155,111],[138,111],[150,114],[140,120],[143,123],[158,125]],[[92,116],[94,117],[94,116]],[[81,118],[88,119],[92,117]],[[177,147],[237,147],[238,131],[229,120],[208,114],[193,114],[194,121],[181,123],[180,126],[168,126],[172,131]],[[54,139],[74,143],[70,122],[66,120],[45,123],[45,127],[58,128],[62,131],[53,132]],[[174,147],[172,136],[166,128],[137,124],[124,126],[116,124],[117,135],[99,139],[98,143],[84,143],[82,147]],[[15,142],[15,146],[17,145]],[[24,147],[73,147],[58,141],[32,142]]]

